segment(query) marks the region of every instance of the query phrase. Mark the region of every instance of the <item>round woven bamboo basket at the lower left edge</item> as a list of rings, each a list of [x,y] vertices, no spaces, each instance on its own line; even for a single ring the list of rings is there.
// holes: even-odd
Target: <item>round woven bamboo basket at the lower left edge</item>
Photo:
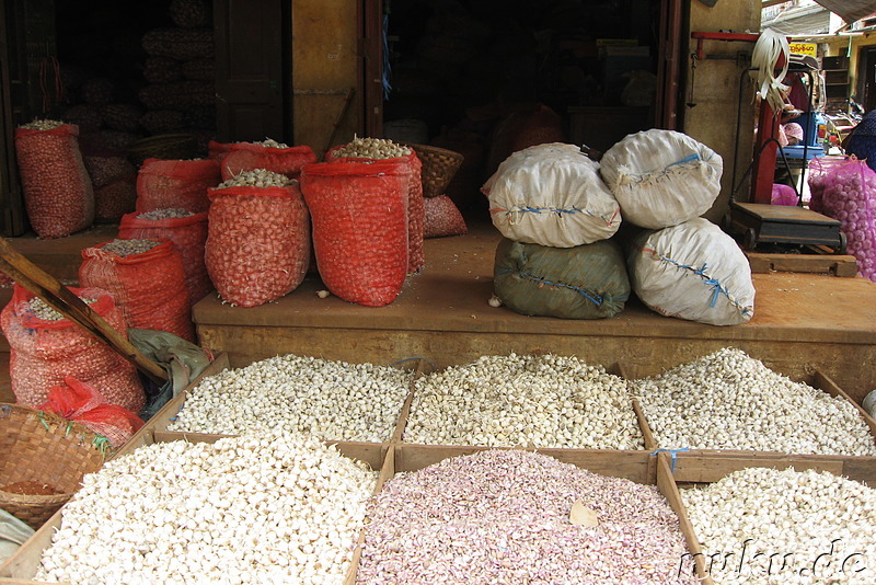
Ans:
[[[80,489],[82,477],[101,469],[112,452],[106,438],[83,425],[0,403],[0,508],[37,529]],[[14,493],[34,486],[60,493]]]

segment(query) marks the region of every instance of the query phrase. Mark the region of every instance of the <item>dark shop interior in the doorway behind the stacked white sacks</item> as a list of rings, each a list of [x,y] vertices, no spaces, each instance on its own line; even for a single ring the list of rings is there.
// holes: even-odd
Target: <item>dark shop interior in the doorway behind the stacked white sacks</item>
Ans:
[[[654,125],[660,2],[387,3],[384,134],[461,152],[448,195],[477,190],[511,152],[567,141],[604,151]]]

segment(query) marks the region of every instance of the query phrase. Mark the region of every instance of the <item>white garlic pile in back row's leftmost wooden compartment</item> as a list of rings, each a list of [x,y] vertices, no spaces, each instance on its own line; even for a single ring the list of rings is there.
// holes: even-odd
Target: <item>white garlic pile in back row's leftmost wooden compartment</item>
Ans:
[[[412,374],[390,366],[275,356],[204,378],[169,431],[239,435],[275,427],[324,440],[390,440]]]

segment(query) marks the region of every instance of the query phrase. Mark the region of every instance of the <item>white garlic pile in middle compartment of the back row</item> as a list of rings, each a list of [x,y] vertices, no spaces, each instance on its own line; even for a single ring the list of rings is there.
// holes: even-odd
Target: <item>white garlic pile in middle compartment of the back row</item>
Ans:
[[[482,356],[414,381],[406,443],[643,449],[626,381],[576,357]]]

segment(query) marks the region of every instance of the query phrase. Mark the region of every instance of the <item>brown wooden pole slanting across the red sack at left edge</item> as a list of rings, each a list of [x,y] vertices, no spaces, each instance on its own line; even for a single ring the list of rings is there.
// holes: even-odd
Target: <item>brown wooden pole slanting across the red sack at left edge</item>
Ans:
[[[159,386],[168,381],[168,372],[164,371],[164,368],[140,353],[103,317],[94,312],[87,302],[61,285],[54,276],[20,254],[5,238],[0,238],[0,269],[64,317],[110,345],[125,359],[137,366],[137,369],[150,380]]]

